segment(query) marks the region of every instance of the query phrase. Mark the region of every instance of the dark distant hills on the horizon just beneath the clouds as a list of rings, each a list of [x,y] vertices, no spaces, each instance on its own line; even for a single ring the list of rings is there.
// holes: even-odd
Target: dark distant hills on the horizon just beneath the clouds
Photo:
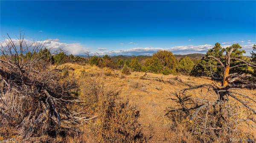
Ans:
[[[205,54],[202,54],[202,53],[190,53],[190,54],[187,54],[187,55],[174,55],[178,60],[180,58],[183,58],[185,56],[188,56],[190,57],[191,59],[201,59],[202,57],[205,56]],[[123,59],[123,60],[131,60],[131,59],[134,59],[135,57],[137,57],[137,59],[139,61],[143,61],[145,59],[149,59],[151,58],[151,56],[123,56],[123,55],[119,55],[119,56],[111,56],[111,59],[113,59],[113,61],[116,61],[117,59]]]

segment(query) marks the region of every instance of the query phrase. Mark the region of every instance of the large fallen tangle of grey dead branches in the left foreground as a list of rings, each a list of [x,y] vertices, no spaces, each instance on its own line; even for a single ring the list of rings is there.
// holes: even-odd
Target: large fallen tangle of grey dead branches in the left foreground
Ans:
[[[27,43],[21,34],[0,43],[0,133],[12,128],[34,142],[44,135],[77,134],[76,124],[96,118],[71,106],[83,102],[75,94],[76,80],[49,66],[42,48],[44,43]]]

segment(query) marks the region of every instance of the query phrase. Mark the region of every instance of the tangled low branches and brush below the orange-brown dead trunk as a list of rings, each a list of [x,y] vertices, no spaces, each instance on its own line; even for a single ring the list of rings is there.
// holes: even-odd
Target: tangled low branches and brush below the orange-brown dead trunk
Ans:
[[[213,100],[209,98],[195,98],[190,92],[198,90],[207,90],[209,94],[215,93]],[[173,93],[175,98],[169,98],[175,101],[180,108],[169,107],[166,112],[173,121],[186,123],[189,131],[202,142],[213,142],[216,139],[222,139],[223,142],[228,142],[231,137],[238,137],[241,133],[238,129],[238,123],[241,121],[238,118],[237,109],[239,105],[232,104],[229,97],[240,102],[244,107],[256,114],[256,110],[252,105],[256,104],[256,100],[248,95],[244,95],[236,88],[227,86],[221,87],[212,84],[195,85]],[[207,96],[207,95],[205,95]],[[244,98],[252,101],[253,104],[248,104]],[[252,120],[254,120],[252,118]]]

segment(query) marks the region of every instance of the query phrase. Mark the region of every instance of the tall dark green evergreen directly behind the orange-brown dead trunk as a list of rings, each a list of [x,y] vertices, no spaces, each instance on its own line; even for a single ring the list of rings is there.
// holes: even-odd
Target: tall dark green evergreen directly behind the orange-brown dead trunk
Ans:
[[[243,53],[245,53],[245,51],[241,50],[242,47],[239,44],[233,44],[230,47],[221,48],[221,45],[219,43],[216,43],[212,49],[207,51],[206,56],[204,56],[193,68],[192,75],[221,77],[223,69],[222,67],[220,67],[219,62],[214,60],[211,56],[214,56],[215,58],[221,60],[221,62],[224,62],[226,58],[224,56],[224,52],[229,51],[231,48],[233,48],[234,50],[230,55],[232,57],[232,59],[230,60],[230,67],[233,68],[230,69],[229,73],[252,73],[252,67],[242,65],[243,62],[241,60],[238,60],[242,59],[244,61],[249,61],[246,56],[243,56]]]

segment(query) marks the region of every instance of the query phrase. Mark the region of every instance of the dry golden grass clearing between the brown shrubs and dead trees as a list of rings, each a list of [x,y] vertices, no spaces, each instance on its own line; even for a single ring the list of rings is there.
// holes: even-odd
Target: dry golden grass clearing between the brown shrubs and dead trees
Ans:
[[[174,107],[177,105],[172,100],[166,100],[172,96],[178,90],[186,88],[184,84],[180,84],[177,81],[170,83],[163,83],[160,81],[144,80],[138,78],[143,76],[142,72],[131,72],[131,75],[125,76],[119,70],[111,70],[109,68],[99,68],[90,65],[78,65],[78,64],[64,64],[73,68],[70,70],[71,76],[76,78],[83,78],[83,74],[87,76],[96,77],[97,81],[104,84],[108,89],[119,91],[120,100],[129,100],[131,105],[135,105],[140,110],[139,122],[143,125],[145,132],[150,132],[153,137],[150,142],[154,143],[169,143],[169,142],[196,142],[196,140],[186,131],[186,126],[178,125],[176,131],[170,131],[170,121],[164,116],[165,109],[167,107]],[[115,73],[119,73],[121,76],[117,76]],[[163,76],[163,79],[179,77],[182,81],[190,84],[212,84],[212,80],[206,78],[196,78],[183,75],[168,75],[148,73],[149,76],[159,77]],[[241,93],[246,93],[252,98],[256,99],[256,90],[241,90]],[[194,97],[214,99],[212,94],[207,90],[195,91],[191,93]],[[250,102],[246,99],[246,101]],[[230,98],[230,102],[234,105],[239,105],[239,117],[241,122],[239,123],[239,129],[244,134],[256,137],[256,126],[248,118],[254,117],[252,112],[249,112],[238,102]],[[255,109],[256,105],[251,104]],[[243,119],[243,120],[242,120]],[[247,122],[245,122],[247,120]]]

